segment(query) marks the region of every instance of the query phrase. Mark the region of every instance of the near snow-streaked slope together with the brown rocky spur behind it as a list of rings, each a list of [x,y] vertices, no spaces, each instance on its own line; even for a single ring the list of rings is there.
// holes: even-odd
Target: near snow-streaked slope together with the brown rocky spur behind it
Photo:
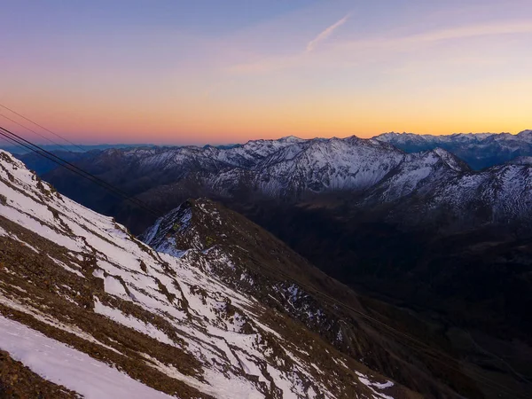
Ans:
[[[5,152],[0,188],[2,395],[483,397],[446,342],[212,200],[143,242]]]

